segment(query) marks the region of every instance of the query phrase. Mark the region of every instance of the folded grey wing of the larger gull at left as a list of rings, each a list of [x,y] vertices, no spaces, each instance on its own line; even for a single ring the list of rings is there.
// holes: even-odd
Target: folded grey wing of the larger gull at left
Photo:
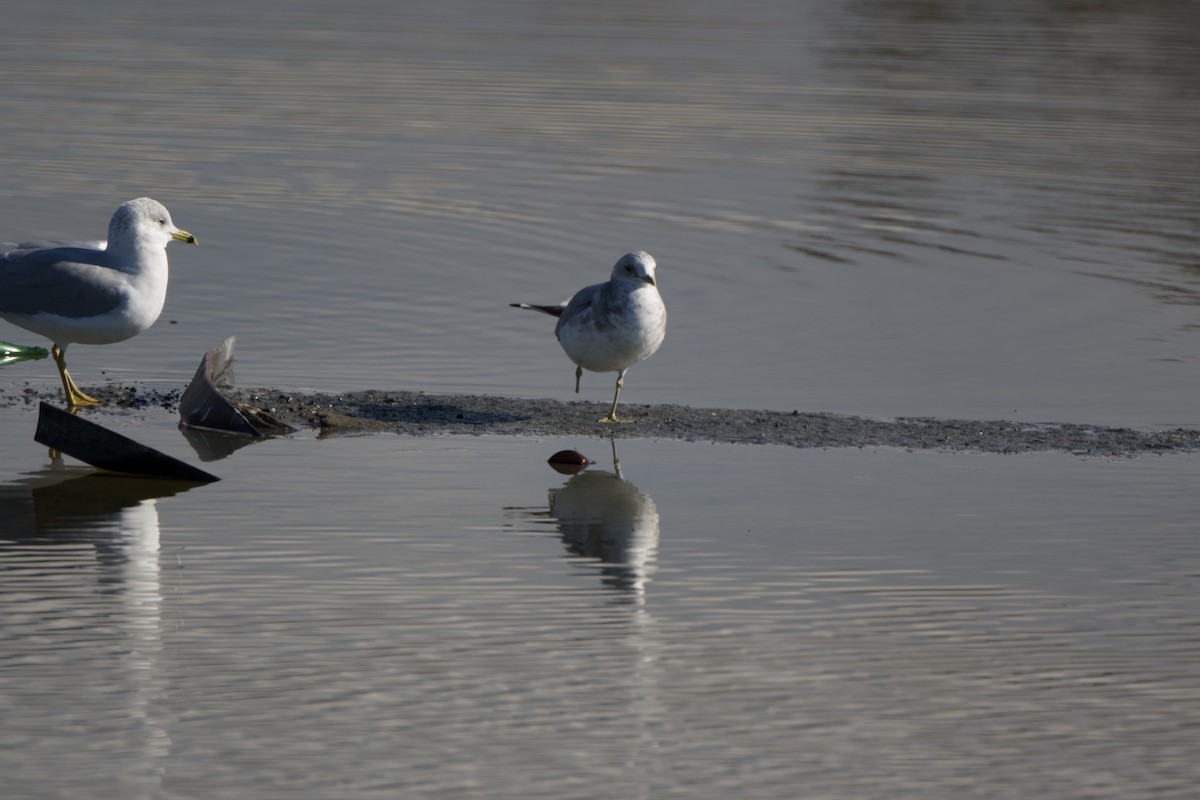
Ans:
[[[127,278],[91,247],[18,247],[0,255],[0,312],[95,317],[121,302]]]

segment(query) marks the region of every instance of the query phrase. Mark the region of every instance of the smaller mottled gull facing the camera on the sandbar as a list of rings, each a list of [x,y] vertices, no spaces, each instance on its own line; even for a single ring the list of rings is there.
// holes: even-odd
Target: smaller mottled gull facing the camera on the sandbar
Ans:
[[[612,267],[607,283],[598,283],[557,306],[510,303],[558,317],[554,336],[575,362],[575,393],[583,371],[616,372],[617,391],[612,409],[601,422],[629,422],[617,417],[617,398],[625,371],[654,355],[667,332],[667,308],[659,294],[658,265],[646,251],[625,253]]]

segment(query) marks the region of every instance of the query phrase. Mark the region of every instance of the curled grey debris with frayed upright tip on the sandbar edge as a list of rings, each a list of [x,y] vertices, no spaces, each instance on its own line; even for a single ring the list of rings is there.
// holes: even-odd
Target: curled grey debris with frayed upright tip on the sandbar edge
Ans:
[[[269,435],[293,433],[295,428],[280,422],[270,414],[245,404],[235,404],[221,389],[233,385],[234,337],[212,348],[200,359],[192,383],[179,398],[179,422],[184,435],[203,461],[224,458],[239,447]],[[218,431],[244,441],[188,435],[188,429]]]

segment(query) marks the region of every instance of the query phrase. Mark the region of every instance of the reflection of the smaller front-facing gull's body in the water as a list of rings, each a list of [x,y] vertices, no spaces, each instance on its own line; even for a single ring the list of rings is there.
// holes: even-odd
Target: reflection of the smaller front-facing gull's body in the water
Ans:
[[[599,559],[606,584],[641,591],[654,572],[659,512],[650,495],[616,473],[587,470],[550,491],[550,516],[568,549]]]

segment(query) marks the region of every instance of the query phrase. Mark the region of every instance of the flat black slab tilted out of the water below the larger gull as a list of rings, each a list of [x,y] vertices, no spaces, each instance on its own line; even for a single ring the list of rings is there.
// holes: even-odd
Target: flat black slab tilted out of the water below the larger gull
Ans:
[[[221,480],[203,469],[185,464],[178,458],[44,402],[38,408],[37,433],[34,434],[34,441],[114,473],[196,483]]]

